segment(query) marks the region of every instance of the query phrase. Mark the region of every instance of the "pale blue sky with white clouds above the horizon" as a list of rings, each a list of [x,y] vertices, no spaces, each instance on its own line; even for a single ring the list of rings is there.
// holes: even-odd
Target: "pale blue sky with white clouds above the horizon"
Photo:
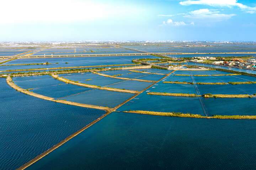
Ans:
[[[256,41],[256,0],[2,0],[0,41]]]

